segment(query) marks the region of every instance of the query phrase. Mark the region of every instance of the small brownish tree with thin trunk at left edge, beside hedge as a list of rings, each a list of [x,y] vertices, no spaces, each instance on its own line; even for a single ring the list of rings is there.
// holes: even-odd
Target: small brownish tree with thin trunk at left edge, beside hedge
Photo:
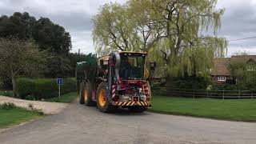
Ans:
[[[44,52],[39,52],[33,42],[0,38],[0,74],[4,72],[5,77],[11,78],[14,96],[16,78],[20,75],[38,76],[44,69],[45,60]]]

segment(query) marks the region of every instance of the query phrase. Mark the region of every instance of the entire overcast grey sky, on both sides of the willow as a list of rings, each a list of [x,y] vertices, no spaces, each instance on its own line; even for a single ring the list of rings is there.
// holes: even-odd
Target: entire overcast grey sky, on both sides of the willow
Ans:
[[[72,38],[72,52],[94,53],[91,18],[106,2],[126,0],[1,0],[0,15],[29,12],[40,18],[50,18],[64,26]],[[225,8],[219,36],[229,40],[256,36],[256,0],[218,0],[218,8]],[[256,38],[229,42],[228,55],[238,51],[256,54]]]

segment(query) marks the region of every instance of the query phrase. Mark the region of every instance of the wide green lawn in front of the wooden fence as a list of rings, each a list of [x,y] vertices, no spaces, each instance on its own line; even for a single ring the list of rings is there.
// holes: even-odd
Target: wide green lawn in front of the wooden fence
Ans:
[[[256,99],[170,98],[153,96],[150,111],[256,122]]]

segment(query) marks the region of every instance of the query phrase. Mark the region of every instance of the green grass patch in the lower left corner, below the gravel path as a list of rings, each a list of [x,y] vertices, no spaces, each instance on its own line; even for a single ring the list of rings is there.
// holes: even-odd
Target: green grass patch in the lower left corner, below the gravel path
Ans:
[[[17,107],[11,110],[0,108],[0,128],[18,125],[19,123],[40,117],[42,116],[36,111],[28,111]]]

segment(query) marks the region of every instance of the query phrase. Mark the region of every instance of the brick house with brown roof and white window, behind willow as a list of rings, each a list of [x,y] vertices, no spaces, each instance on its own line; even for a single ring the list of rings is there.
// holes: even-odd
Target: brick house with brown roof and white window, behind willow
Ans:
[[[214,60],[214,69],[211,72],[211,78],[214,83],[223,84],[226,80],[233,78],[227,66],[230,62],[256,62],[256,55],[231,56],[231,58],[216,58]],[[247,70],[256,70],[254,67],[248,67]]]

